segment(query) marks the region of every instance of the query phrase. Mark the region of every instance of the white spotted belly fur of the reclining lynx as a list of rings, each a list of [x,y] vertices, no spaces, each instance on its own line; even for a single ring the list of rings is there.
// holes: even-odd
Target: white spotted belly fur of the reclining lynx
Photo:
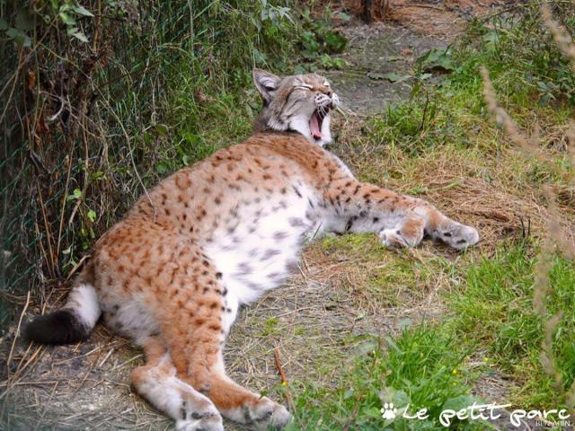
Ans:
[[[314,193],[303,185],[297,191],[301,197],[290,190],[238,208],[241,223],[234,231],[219,228],[206,244],[206,254],[222,273],[227,291],[226,308],[231,312],[225,313],[226,332],[240,304],[279,286],[294,271],[306,235],[318,230]]]

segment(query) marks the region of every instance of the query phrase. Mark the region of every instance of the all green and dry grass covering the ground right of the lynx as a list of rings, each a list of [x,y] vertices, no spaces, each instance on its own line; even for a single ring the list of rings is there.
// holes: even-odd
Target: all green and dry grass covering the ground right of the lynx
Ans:
[[[511,382],[504,399],[491,402],[509,402],[512,409],[570,406],[575,266],[560,251],[553,255],[543,316],[533,302],[535,264],[549,217],[544,188],[572,187],[565,130],[575,114],[575,75],[535,9],[490,23],[473,22],[464,43],[452,48],[451,74],[431,84],[425,71],[416,70],[410,101],[389,107],[341,138],[341,154],[359,178],[430,198],[456,217],[467,216],[466,222],[480,227],[482,247],[456,259],[434,260],[427,254],[411,259],[409,253],[390,256],[370,235],[323,240],[327,259],[344,261],[347,271],[364,272],[353,278],[358,295],[401,310],[425,302],[428,293],[423,289],[418,296],[418,287],[437,283],[433,298],[446,312],[440,319],[408,321],[400,333],[367,341],[367,353],[342,365],[331,388],[296,385],[294,429],[442,429],[440,410],[471,405],[476,400],[471,388],[481,375]],[[563,23],[575,27],[571,18]],[[541,157],[524,154],[491,122],[482,97],[482,65],[490,70],[501,105],[520,128],[539,138]],[[570,202],[559,200],[567,233],[575,223]],[[374,260],[378,268],[369,265]],[[417,277],[421,268],[424,277]],[[397,294],[402,290],[408,295]],[[546,329],[558,312],[558,325]],[[542,363],[546,333],[559,380]],[[489,388],[482,391],[490,395]],[[379,409],[390,401],[397,408],[426,407],[429,418],[386,422]],[[488,426],[462,421],[455,427]]]

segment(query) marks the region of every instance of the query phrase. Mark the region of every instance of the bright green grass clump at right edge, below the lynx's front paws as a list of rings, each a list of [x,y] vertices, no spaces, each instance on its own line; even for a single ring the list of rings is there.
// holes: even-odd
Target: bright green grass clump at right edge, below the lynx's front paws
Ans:
[[[540,360],[545,321],[533,307],[537,258],[525,243],[501,248],[495,256],[471,266],[465,285],[449,296],[448,304],[457,316],[451,322],[457,336],[470,347],[487,347],[492,364],[521,383],[513,400],[549,408],[565,405],[565,391],[575,377],[575,265],[559,256],[553,258],[545,298],[545,321],[562,312],[553,331],[554,363],[562,376],[558,391]]]

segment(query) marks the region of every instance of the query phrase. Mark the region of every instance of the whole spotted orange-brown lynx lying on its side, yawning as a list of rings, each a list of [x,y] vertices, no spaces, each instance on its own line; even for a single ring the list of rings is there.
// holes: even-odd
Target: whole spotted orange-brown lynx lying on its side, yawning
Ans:
[[[226,376],[222,350],[238,307],[280,286],[306,240],[373,232],[414,247],[427,234],[464,249],[479,239],[424,200],[357,180],[323,149],[339,101],[325,78],[256,69],[253,80],[263,98],[254,134],[140,198],[96,242],[66,305],[25,330],[40,343],[74,343],[102,315],[144,348],[131,382],[178,430],[222,430],[222,416],[288,424],[287,409]]]

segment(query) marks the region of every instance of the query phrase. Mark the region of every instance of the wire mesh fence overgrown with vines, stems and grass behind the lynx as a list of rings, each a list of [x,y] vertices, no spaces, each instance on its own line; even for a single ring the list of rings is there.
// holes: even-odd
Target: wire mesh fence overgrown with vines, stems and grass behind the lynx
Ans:
[[[0,3],[0,328],[27,292],[45,303],[157,180],[181,70],[209,91],[286,55],[276,3]]]

